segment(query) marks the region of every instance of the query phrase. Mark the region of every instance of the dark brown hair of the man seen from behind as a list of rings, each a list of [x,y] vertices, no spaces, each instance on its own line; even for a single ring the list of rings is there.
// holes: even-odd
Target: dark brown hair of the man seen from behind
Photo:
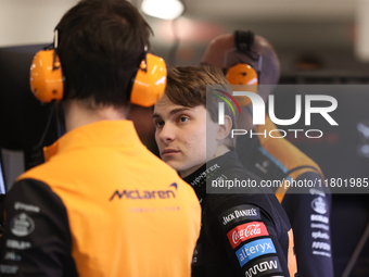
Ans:
[[[139,11],[126,0],[81,0],[56,28],[65,99],[127,105],[131,79],[152,33]]]

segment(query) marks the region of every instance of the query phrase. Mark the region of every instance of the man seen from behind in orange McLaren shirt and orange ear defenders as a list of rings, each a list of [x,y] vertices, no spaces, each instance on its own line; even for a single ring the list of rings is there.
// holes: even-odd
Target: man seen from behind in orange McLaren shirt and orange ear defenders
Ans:
[[[190,276],[196,196],[126,119],[164,93],[150,33],[127,1],[82,0],[36,54],[31,90],[61,100],[66,134],[9,191],[1,276]]]

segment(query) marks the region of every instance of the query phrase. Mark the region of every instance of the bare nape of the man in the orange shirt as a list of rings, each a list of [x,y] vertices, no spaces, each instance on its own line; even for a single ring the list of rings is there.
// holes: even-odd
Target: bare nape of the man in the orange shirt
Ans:
[[[93,106],[86,100],[69,100],[65,103],[66,131],[99,121],[124,121],[127,119],[129,108]]]

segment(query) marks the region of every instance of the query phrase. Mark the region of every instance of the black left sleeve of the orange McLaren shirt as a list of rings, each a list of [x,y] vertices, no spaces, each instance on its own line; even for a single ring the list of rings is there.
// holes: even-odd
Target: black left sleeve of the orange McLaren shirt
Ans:
[[[5,199],[1,276],[77,276],[66,209],[46,184],[22,179]]]

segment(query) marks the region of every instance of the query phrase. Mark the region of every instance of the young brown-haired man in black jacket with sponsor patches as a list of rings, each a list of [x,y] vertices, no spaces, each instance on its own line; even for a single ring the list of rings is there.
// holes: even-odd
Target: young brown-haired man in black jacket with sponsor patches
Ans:
[[[227,194],[206,191],[206,182],[260,181],[234,152],[229,106],[218,125],[222,92],[216,88],[227,84],[215,67],[170,67],[166,92],[153,111],[161,158],[193,187],[202,205],[192,276],[295,276],[293,232],[272,191],[257,186]],[[219,86],[206,91],[207,85]],[[229,84],[220,88],[229,92]]]

